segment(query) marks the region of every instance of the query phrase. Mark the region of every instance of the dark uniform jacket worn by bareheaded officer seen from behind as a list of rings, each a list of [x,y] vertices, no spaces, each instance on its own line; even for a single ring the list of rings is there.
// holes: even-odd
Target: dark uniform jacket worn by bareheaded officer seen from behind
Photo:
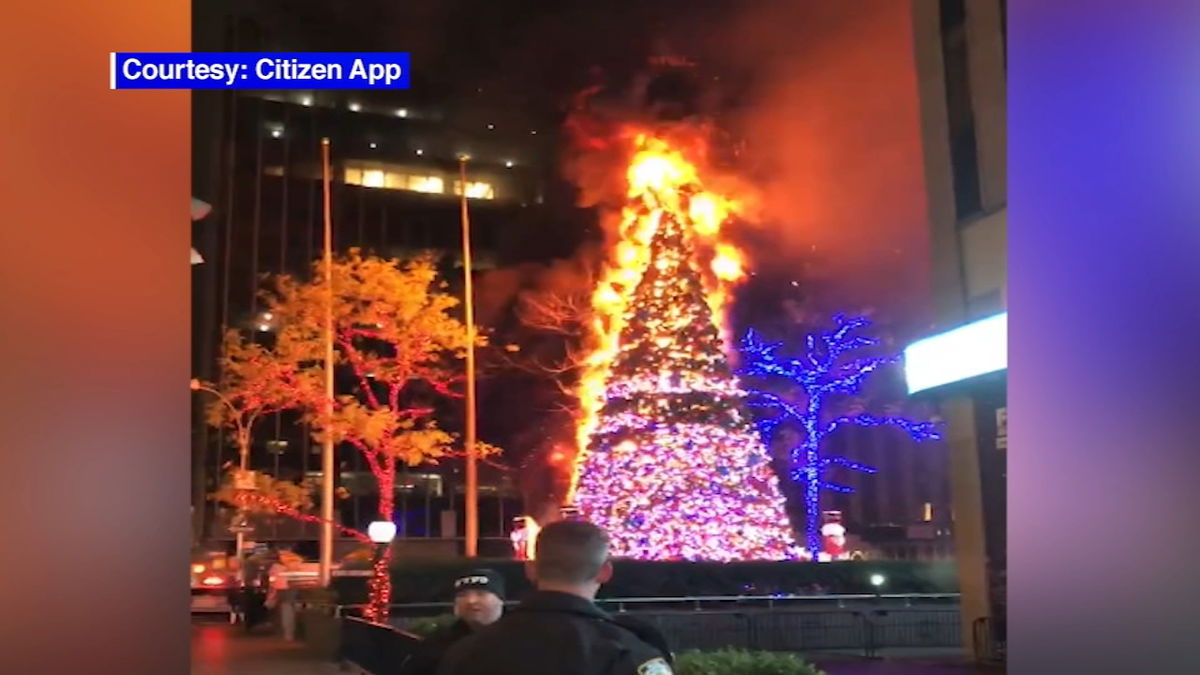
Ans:
[[[438,675],[668,675],[667,658],[592,601],[538,591],[450,647]]]

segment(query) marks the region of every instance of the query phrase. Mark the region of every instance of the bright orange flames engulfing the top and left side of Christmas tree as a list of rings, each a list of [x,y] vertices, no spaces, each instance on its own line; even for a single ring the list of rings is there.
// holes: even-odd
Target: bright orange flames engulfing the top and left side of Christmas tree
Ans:
[[[744,202],[706,190],[698,162],[685,156],[680,147],[649,132],[634,135],[632,141],[634,155],[625,172],[628,201],[620,217],[618,240],[592,295],[592,351],[582,364],[578,384],[581,414],[576,442],[580,452],[568,500],[578,486],[580,467],[604,406],[610,366],[620,351],[623,317],[650,262],[650,240],[664,215],[672,216],[688,229],[696,251],[692,262],[701,273],[707,304],[726,345],[727,304],[732,288],[746,274],[745,255],[727,237],[722,237],[727,235],[722,227],[742,213]]]

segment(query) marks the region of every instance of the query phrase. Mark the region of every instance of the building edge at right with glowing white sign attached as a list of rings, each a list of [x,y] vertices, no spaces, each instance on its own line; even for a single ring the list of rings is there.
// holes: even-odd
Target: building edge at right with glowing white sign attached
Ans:
[[[965,646],[998,657],[1007,621],[1007,7],[912,7],[935,315],[924,346],[941,357],[922,360],[917,344],[906,366],[910,390],[946,420]]]

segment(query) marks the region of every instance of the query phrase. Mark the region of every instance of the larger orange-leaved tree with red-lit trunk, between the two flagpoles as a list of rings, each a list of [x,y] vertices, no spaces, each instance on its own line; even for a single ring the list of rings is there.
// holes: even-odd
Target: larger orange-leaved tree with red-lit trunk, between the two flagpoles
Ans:
[[[324,401],[324,264],[312,280],[277,280],[269,310],[277,318],[275,353],[298,369],[295,404],[318,441],[354,447],[378,486],[377,518],[391,521],[396,470],[461,455],[456,438],[438,428],[434,402],[460,396],[455,360],[467,347],[466,327],[454,315],[457,298],[443,292],[428,258],[407,262],[362,256],[352,250],[332,265],[332,324],[338,390],[332,414]],[[481,444],[484,454],[496,452]],[[365,616],[385,621],[390,603],[390,549],[376,563]]]

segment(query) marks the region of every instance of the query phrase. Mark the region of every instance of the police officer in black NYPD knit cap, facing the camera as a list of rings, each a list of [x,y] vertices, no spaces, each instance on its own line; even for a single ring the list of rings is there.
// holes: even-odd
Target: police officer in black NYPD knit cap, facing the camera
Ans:
[[[475,569],[454,583],[455,622],[421,641],[404,662],[401,675],[436,675],[446,650],[504,613],[504,578],[492,569]]]

